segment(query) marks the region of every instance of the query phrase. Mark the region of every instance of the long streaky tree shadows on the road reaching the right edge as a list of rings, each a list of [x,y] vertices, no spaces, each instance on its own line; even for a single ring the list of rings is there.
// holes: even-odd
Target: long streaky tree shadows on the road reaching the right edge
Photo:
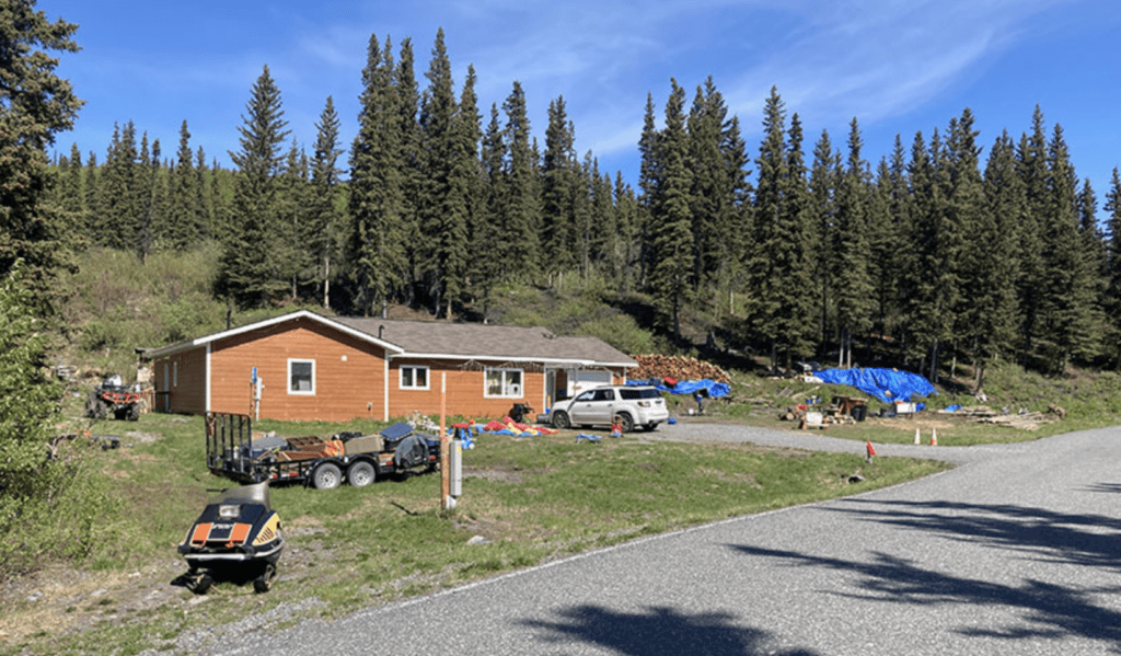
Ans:
[[[851,502],[851,503],[850,503]],[[853,507],[855,503],[860,507]],[[1039,508],[954,502],[869,501],[849,499],[834,511],[859,519],[883,521],[917,530],[936,532],[949,539],[1011,549],[1048,563],[1118,570],[1121,521],[1101,515],[1071,515]],[[1102,529],[1109,534],[1101,534]],[[742,554],[788,561],[791,566],[824,567],[856,574],[862,590],[841,593],[862,600],[910,606],[967,604],[1008,607],[1025,612],[1013,625],[980,629],[962,627],[961,635],[1007,639],[1084,637],[1111,643],[1121,649],[1121,612],[1094,603],[1101,594],[1117,594],[1121,585],[1060,585],[1031,579],[1019,584],[975,580],[926,570],[915,561],[871,552],[850,561],[822,555],[729,545]]]

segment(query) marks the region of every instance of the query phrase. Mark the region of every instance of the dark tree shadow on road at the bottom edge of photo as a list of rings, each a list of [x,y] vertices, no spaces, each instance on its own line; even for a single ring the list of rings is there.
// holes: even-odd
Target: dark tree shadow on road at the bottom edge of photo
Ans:
[[[651,607],[646,612],[617,612],[599,606],[571,608],[556,621],[525,620],[527,627],[545,631],[552,643],[581,640],[609,647],[620,654],[707,654],[708,656],[816,656],[808,649],[781,650],[763,630],[735,626],[724,613],[683,613],[673,608]]]

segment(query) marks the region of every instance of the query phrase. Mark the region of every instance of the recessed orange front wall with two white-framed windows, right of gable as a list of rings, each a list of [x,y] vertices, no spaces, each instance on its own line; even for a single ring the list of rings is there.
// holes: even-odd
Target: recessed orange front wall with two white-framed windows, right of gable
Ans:
[[[408,418],[414,412],[439,416],[439,391],[442,375],[447,376],[447,416],[462,416],[467,419],[501,418],[510,412],[513,404],[525,404],[535,412],[543,412],[541,398],[545,396],[545,373],[540,366],[504,367],[521,369],[521,396],[518,398],[487,398],[485,370],[480,367],[462,369],[460,362],[446,360],[418,360],[410,358],[389,361],[389,416],[391,418]],[[500,363],[481,362],[482,367],[498,367]],[[428,367],[428,389],[401,389],[401,367]]]

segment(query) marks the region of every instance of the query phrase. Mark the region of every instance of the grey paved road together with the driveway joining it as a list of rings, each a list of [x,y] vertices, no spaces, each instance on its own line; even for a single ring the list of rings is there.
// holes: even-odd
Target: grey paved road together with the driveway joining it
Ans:
[[[855,451],[701,425],[663,437]],[[685,656],[1121,652],[1121,428],[937,454],[953,471],[640,539],[223,654]],[[441,627],[441,628],[435,628]]]

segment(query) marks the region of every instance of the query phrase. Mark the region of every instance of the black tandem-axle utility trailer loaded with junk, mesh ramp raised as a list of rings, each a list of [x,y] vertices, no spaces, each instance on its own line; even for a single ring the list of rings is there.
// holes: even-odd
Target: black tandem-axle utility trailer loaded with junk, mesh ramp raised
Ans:
[[[405,471],[432,471],[439,438],[405,423],[374,435],[321,437],[254,435],[249,415],[206,413],[206,469],[242,484],[298,482],[319,490],[345,480],[354,487]]]

